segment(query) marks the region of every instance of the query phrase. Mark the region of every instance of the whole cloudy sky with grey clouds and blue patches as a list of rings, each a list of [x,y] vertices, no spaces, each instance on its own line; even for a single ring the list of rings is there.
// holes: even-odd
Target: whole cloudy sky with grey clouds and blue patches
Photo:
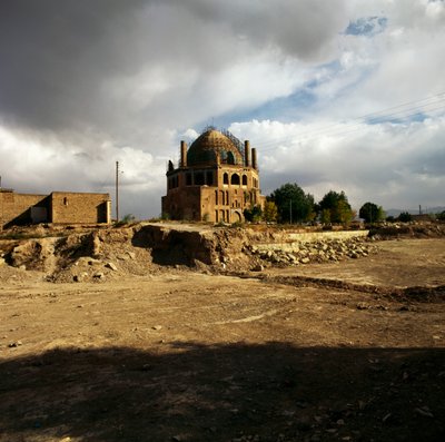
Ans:
[[[445,205],[443,0],[0,0],[0,175],[158,216],[207,125],[258,149],[263,193]]]

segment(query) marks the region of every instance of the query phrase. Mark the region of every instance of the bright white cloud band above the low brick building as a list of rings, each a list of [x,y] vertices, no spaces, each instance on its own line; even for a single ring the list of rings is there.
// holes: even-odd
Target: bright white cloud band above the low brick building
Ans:
[[[140,149],[103,143],[91,155],[62,144],[51,134],[34,136],[0,126],[0,157],[3,187],[38,194],[98,191],[112,197],[119,161],[121,210],[139,217],[159,214],[154,194],[164,191],[164,181],[159,179],[166,171],[164,160]]]

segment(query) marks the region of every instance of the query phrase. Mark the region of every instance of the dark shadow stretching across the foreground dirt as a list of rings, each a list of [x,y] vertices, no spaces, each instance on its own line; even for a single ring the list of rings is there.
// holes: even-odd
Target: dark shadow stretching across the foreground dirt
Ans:
[[[0,363],[0,441],[438,442],[444,394],[443,348],[55,350]]]

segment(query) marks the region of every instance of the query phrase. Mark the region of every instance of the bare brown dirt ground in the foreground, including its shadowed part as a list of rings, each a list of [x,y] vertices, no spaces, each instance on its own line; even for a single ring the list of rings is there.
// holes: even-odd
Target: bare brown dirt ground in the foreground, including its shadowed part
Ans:
[[[445,239],[378,247],[241,276],[0,266],[0,441],[444,441]]]

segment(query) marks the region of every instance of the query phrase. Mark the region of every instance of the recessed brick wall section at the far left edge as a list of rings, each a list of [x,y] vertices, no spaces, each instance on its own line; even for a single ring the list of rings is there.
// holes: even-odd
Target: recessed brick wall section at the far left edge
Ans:
[[[0,227],[9,224],[29,224],[31,207],[46,207],[47,195],[14,194],[13,191],[0,191]],[[49,212],[47,210],[49,216]]]

